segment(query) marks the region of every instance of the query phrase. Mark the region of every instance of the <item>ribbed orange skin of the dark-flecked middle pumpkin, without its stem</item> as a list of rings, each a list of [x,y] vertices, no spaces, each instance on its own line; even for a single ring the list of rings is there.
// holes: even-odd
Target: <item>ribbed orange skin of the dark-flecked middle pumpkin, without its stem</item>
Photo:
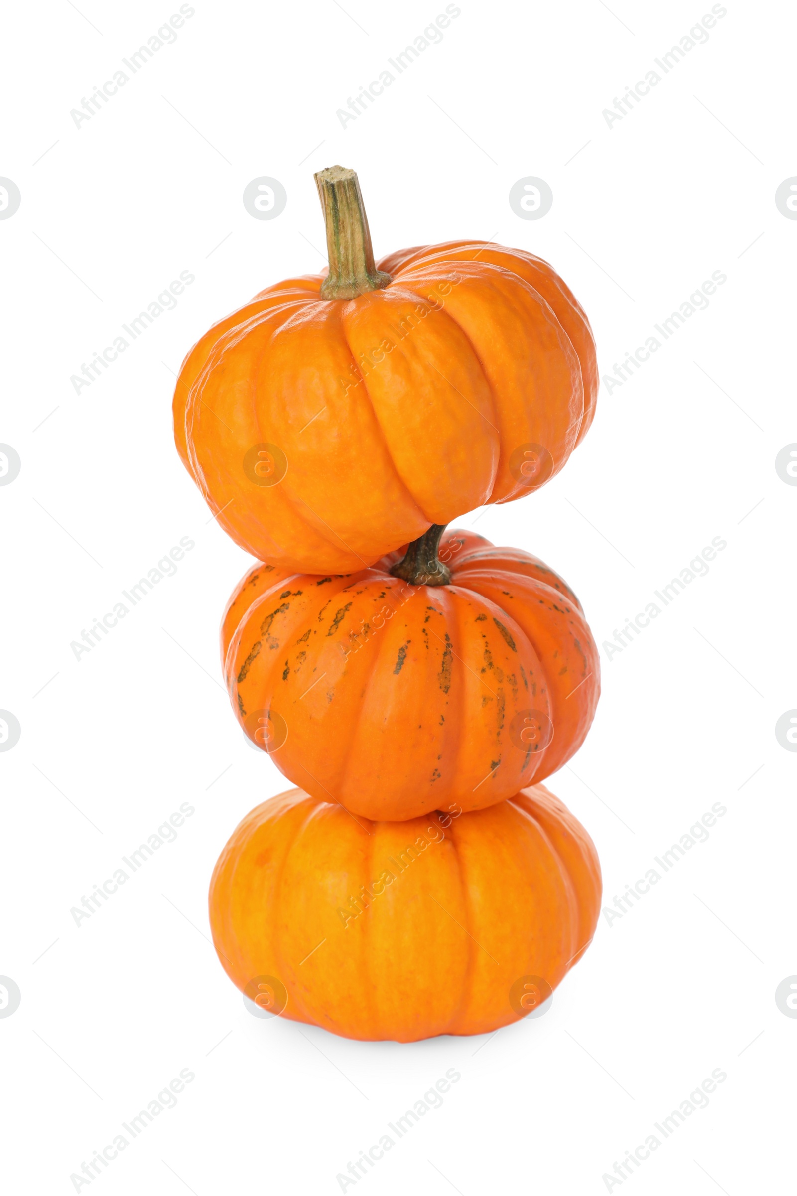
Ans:
[[[225,614],[249,737],[295,785],[366,818],[510,798],[570,759],[595,713],[597,648],[566,584],[473,532],[446,532],[440,553],[450,585],[391,576],[400,553],[349,575],[259,566]]]

